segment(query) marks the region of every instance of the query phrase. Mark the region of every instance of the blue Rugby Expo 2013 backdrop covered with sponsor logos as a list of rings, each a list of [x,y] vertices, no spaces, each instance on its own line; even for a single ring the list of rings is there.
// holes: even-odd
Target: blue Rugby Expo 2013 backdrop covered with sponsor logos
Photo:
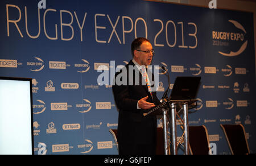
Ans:
[[[140,36],[151,40],[152,65],[164,65],[171,84],[202,77],[189,125],[204,124],[217,153],[229,154],[220,124],[242,123],[255,153],[252,13],[147,1],[38,3],[0,2],[0,76],[33,78],[36,154],[118,153],[109,132],[118,123],[112,87],[98,85],[97,68],[106,65],[109,76],[121,68]],[[166,90],[166,75],[159,81]]]

